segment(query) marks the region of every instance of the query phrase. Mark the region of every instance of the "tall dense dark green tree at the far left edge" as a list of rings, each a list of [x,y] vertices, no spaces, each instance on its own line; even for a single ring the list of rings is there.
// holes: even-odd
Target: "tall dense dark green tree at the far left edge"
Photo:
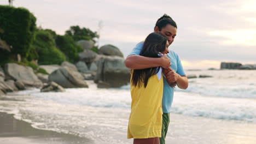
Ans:
[[[0,5],[0,28],[0,38],[12,47],[8,55],[15,57],[19,53],[26,58],[36,31],[36,17],[25,8]]]

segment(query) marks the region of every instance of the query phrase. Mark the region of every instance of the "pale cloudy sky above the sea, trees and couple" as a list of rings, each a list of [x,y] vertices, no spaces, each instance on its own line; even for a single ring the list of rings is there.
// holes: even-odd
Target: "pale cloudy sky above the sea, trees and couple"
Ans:
[[[74,25],[97,31],[100,46],[115,45],[125,57],[167,14],[178,27],[169,50],[178,53],[185,69],[219,68],[220,62],[256,64],[256,0],[15,0],[13,5],[27,8],[37,26],[57,34]]]

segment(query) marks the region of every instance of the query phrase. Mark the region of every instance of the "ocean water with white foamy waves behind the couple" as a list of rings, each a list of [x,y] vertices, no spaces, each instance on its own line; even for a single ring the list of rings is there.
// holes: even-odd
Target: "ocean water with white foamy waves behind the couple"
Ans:
[[[172,113],[191,119],[256,124],[255,70],[186,72],[213,77],[189,79],[186,90],[175,88]],[[14,113],[15,118],[32,123],[34,128],[79,135],[95,143],[132,143],[126,139],[129,85],[99,89],[94,82],[87,82],[89,88],[67,88],[66,92],[30,89],[9,93],[0,100],[0,111]]]

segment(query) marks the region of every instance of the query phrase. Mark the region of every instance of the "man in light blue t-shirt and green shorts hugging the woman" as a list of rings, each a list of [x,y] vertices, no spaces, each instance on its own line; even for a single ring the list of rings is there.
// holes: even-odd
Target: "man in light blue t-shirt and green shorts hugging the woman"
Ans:
[[[176,37],[177,25],[172,18],[166,14],[156,21],[154,32],[164,34],[171,45]],[[170,46],[169,45],[169,46]],[[151,58],[139,56],[143,43],[139,43],[132,50],[129,56],[126,57],[125,65],[130,69],[146,69],[153,67],[165,68],[163,73],[164,78],[164,93],[162,96],[162,131],[160,143],[165,144],[165,137],[170,122],[170,109],[173,100],[173,87],[176,85],[181,89],[188,87],[188,78],[184,73],[181,61],[173,51],[168,51],[167,55],[160,58]]]

